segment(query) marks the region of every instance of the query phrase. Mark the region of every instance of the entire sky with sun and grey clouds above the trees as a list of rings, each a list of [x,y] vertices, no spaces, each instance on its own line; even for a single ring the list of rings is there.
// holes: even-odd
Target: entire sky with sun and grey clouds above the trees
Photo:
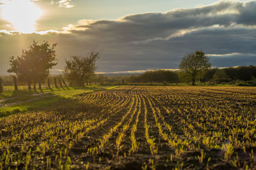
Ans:
[[[256,65],[256,1],[0,0],[0,74],[35,41],[73,55],[100,52],[97,73],[177,69],[204,50],[214,67]]]

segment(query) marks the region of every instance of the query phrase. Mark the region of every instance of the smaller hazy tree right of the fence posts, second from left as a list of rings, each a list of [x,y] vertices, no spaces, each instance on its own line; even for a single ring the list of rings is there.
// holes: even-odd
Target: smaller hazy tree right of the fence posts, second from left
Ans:
[[[98,59],[99,52],[94,50],[88,52],[86,57],[72,56],[70,60],[66,60],[63,74],[71,84],[84,86],[84,83],[86,83],[88,85],[88,81],[92,80],[92,77],[95,75],[94,71],[97,68],[95,63]]]

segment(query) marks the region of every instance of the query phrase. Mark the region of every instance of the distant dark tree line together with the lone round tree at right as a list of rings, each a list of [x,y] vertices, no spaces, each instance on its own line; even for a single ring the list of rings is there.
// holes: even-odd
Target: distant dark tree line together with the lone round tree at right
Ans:
[[[256,85],[256,66],[238,66],[217,68],[211,67],[209,57],[203,51],[184,55],[179,64],[179,71],[146,71],[140,75],[107,76],[96,78],[97,82],[106,83],[237,83]]]

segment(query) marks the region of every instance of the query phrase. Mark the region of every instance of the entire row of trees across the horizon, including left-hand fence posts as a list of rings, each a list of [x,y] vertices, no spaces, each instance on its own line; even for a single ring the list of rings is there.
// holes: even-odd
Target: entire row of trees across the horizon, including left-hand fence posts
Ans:
[[[36,90],[36,83],[41,89],[41,83],[47,81],[51,88],[54,81],[55,87],[84,86],[92,83],[227,83],[230,81],[256,81],[256,66],[227,67],[223,69],[212,68],[209,57],[203,51],[187,53],[181,59],[179,71],[146,71],[143,74],[131,76],[103,76],[95,75],[96,61],[100,53],[91,50],[86,56],[72,56],[65,60],[63,74],[51,80],[50,69],[58,64],[56,59],[56,43],[44,41],[38,44],[35,40],[21,55],[10,57],[8,73],[12,74],[15,90],[18,90],[17,81],[27,83],[28,89]],[[10,81],[10,78],[8,79]],[[255,83],[256,84],[256,83]],[[0,78],[0,92],[3,92],[3,82]]]

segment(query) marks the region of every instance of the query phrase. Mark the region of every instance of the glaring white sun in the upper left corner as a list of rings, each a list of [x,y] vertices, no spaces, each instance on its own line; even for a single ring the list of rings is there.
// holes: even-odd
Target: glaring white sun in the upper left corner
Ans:
[[[35,31],[36,20],[42,15],[42,10],[30,0],[6,0],[1,14],[16,31],[30,33]]]

